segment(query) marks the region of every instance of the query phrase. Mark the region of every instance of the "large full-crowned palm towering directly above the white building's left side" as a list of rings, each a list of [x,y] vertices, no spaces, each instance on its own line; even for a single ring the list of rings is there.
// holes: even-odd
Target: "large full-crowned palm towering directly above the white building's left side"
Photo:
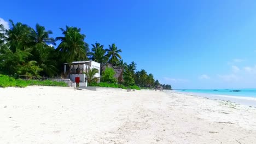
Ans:
[[[81,29],[77,27],[68,27],[66,30],[60,28],[64,37],[57,37],[55,40],[61,40],[56,51],[60,51],[63,58],[68,63],[73,61],[83,61],[88,59],[88,44],[85,43],[85,35],[81,34]]]

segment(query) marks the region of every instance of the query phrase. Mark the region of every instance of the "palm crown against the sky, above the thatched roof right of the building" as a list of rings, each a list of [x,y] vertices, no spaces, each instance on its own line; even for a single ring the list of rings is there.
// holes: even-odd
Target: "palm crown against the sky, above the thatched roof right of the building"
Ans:
[[[112,45],[108,45],[109,49],[106,49],[107,51],[107,55],[110,59],[109,59],[109,63],[112,65],[116,65],[118,62],[118,59],[121,59],[121,56],[119,55],[120,52],[122,52],[121,49],[118,49],[117,46],[115,46],[115,44]]]

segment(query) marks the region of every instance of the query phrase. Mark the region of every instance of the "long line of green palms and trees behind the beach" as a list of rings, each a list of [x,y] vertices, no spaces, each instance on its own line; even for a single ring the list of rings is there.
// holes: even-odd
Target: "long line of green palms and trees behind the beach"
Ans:
[[[136,71],[135,62],[124,62],[120,55],[122,50],[115,44],[105,48],[104,45],[95,43],[90,50],[89,44],[85,42],[86,35],[81,33],[80,28],[60,28],[62,37],[53,38],[50,36],[53,32],[38,23],[32,28],[21,22],[9,22],[10,29],[0,25],[0,74],[13,77],[54,77],[61,74],[63,63],[92,60],[123,69],[124,81],[120,83],[125,86],[162,86],[164,89],[171,89],[171,85],[161,85],[146,70]],[[60,44],[56,45],[56,41],[60,41]]]

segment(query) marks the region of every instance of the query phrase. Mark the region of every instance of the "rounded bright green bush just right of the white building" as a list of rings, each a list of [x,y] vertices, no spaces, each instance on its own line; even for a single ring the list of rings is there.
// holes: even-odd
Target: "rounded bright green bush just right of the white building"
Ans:
[[[101,81],[102,81],[102,82],[107,82],[107,83],[117,83],[117,79],[114,77],[114,75],[115,75],[114,69],[107,67],[107,68],[102,72]]]

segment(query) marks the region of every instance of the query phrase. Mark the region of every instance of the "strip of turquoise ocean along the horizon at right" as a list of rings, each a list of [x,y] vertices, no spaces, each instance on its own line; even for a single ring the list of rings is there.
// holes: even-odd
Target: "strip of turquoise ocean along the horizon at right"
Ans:
[[[256,88],[243,89],[176,89],[177,92],[201,93],[214,95],[232,95],[238,97],[256,98]]]

